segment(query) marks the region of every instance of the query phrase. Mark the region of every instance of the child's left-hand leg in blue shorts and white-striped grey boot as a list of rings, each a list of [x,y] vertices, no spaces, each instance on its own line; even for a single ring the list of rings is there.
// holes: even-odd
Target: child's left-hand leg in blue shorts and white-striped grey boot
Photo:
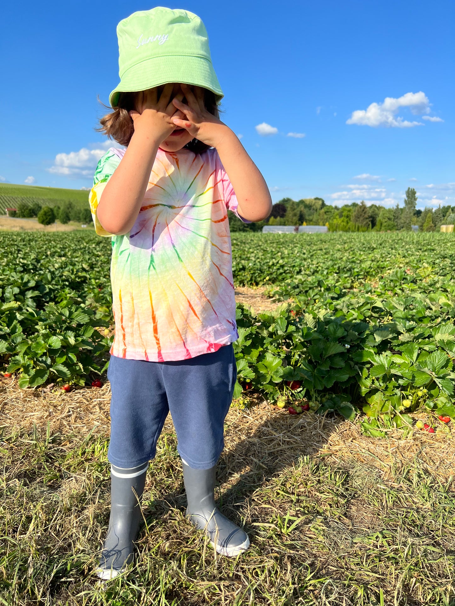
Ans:
[[[133,541],[140,524],[140,503],[150,459],[169,406],[161,364],[111,356],[111,467],[109,530],[96,574],[111,579],[133,561]]]

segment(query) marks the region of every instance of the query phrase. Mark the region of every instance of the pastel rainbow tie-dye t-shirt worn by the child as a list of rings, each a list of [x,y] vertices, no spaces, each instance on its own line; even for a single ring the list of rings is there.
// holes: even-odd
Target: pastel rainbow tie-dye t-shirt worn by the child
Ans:
[[[158,150],[129,233],[103,229],[96,207],[124,150],[101,158],[90,191],[96,233],[112,236],[112,309],[119,358],[163,362],[238,338],[227,208],[237,199],[217,150]]]

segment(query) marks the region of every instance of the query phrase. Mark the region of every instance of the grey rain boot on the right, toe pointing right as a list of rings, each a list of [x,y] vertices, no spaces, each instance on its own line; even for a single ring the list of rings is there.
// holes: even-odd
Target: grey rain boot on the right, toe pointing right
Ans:
[[[215,469],[193,469],[184,461],[183,481],[188,508],[186,517],[204,530],[212,546],[223,556],[235,557],[249,547],[248,534],[218,510],[215,505]]]

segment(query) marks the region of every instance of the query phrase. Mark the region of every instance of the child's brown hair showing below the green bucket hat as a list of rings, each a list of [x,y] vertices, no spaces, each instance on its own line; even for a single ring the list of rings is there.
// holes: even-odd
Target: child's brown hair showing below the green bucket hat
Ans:
[[[129,113],[131,110],[136,109],[136,102],[141,92],[135,93],[120,93],[118,96],[118,102],[116,107],[113,108],[112,112],[106,114],[99,120],[100,126],[95,128],[99,133],[107,135],[110,139],[114,139],[120,145],[127,146],[131,141],[134,132],[134,125],[132,118]],[[109,105],[104,105],[98,98],[98,101],[104,107],[112,109]],[[211,90],[204,89],[204,105],[206,106],[207,112],[210,112],[212,116],[220,118],[220,110],[218,108],[217,99],[215,94]],[[194,153],[203,153],[209,149],[209,145],[198,141],[198,139],[192,139],[187,143],[184,149],[193,151]]]

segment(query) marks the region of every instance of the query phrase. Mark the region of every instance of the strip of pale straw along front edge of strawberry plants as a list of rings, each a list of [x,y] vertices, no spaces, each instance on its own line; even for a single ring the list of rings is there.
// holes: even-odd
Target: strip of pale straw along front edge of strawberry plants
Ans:
[[[109,435],[110,388],[79,388],[70,393],[47,386],[36,390],[21,390],[13,378],[0,379],[0,430],[30,430],[33,424],[51,433],[69,436],[78,442],[92,431]],[[414,428],[406,436],[403,430],[390,430],[386,439],[362,435],[359,424],[344,421],[339,416],[321,417],[314,413],[290,416],[278,410],[260,396],[252,396],[251,407],[241,410],[231,407],[226,419],[226,448],[224,456],[241,455],[257,460],[276,454],[279,467],[293,464],[299,457],[309,455],[327,462],[350,467],[360,464],[375,468],[382,481],[400,484],[409,470],[423,470],[442,482],[455,476],[455,431],[439,421],[434,434]],[[414,415],[428,420],[426,413]],[[164,432],[172,432],[168,416]],[[248,466],[248,461],[245,462]]]

